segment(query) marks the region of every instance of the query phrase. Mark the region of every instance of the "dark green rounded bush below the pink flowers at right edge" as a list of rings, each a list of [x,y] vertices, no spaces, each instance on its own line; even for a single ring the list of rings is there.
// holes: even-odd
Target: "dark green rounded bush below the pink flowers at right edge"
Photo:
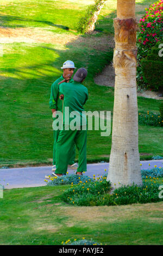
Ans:
[[[147,88],[155,91],[161,89],[163,84],[163,58],[159,56],[159,44],[157,43],[151,53],[141,60],[143,79],[148,84]]]

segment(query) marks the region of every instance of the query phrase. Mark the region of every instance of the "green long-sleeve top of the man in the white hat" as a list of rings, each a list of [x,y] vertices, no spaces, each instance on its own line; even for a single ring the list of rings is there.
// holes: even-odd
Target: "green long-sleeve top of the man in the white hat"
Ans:
[[[54,83],[51,86],[51,96],[49,99],[49,108],[51,109],[57,109],[57,111],[62,112],[62,101],[59,99],[60,93],[59,93],[59,85],[58,83],[64,80],[64,77],[61,75],[57,80],[54,81]],[[73,82],[73,79],[70,80],[69,83]],[[64,83],[66,86],[68,83]]]

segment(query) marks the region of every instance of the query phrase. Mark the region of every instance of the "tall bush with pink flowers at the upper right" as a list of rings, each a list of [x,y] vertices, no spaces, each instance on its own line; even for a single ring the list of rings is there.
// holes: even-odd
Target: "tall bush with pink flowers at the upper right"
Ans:
[[[145,9],[146,14],[140,19],[140,32],[137,37],[137,85],[142,89],[150,88],[143,79],[143,71],[141,60],[147,57],[152,47],[162,39],[163,35],[163,0],[150,5],[149,9]]]

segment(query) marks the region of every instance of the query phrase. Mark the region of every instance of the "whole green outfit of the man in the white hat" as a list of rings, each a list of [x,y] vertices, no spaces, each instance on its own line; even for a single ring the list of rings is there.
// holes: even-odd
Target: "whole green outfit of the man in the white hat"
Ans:
[[[61,75],[54,83],[52,84],[51,87],[51,97],[49,100],[49,108],[51,109],[56,109],[57,111],[62,112],[62,100],[59,99],[60,93],[59,93],[59,85],[58,83],[64,80],[64,77]],[[69,83],[73,82],[71,79]],[[64,83],[65,86],[67,86],[68,83]],[[53,118],[55,120],[55,118]],[[53,165],[55,164],[55,155],[56,155],[56,143],[58,140],[60,130],[53,130],[53,137],[54,137],[54,144],[53,144]],[[76,149],[75,146],[72,147],[71,154],[70,154],[70,159],[68,161],[68,164],[73,164],[74,159],[76,156]]]

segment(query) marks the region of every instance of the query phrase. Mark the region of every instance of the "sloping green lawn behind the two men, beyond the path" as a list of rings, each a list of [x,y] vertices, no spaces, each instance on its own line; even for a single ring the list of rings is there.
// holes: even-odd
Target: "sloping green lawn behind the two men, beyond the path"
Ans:
[[[136,1],[136,16],[153,1]],[[80,35],[76,23],[93,1],[10,1],[0,5],[0,34],[4,41],[0,57],[1,130],[0,167],[14,164],[52,163],[52,114],[48,101],[51,84],[61,75],[60,66],[71,59],[84,66],[89,90],[86,111],[113,111],[114,89],[97,86],[93,77],[112,61],[112,19],[116,0],[108,1],[96,29],[103,33]],[[13,8],[14,4],[14,8]],[[24,37],[26,39],[24,39]],[[28,39],[28,40],[27,40]],[[12,43],[11,43],[12,41]],[[7,43],[8,42],[8,43]],[[159,113],[160,101],[138,97],[139,111]],[[109,160],[111,135],[87,132],[87,160]],[[139,126],[139,151],[144,159],[161,155],[160,127]],[[78,153],[77,153],[78,157]]]

